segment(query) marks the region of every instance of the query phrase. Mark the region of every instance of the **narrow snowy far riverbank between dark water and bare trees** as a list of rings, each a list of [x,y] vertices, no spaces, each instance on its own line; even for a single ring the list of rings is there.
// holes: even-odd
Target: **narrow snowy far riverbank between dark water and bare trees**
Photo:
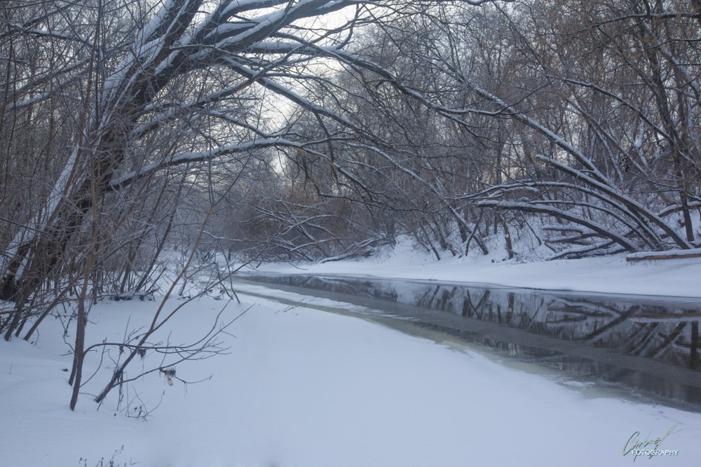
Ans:
[[[378,256],[330,263],[268,263],[261,272],[284,274],[362,274],[394,279],[422,279],[498,284],[633,295],[701,298],[701,258],[645,260],[629,263],[625,255],[576,260],[519,262],[498,251],[489,256],[438,261],[411,242]]]

